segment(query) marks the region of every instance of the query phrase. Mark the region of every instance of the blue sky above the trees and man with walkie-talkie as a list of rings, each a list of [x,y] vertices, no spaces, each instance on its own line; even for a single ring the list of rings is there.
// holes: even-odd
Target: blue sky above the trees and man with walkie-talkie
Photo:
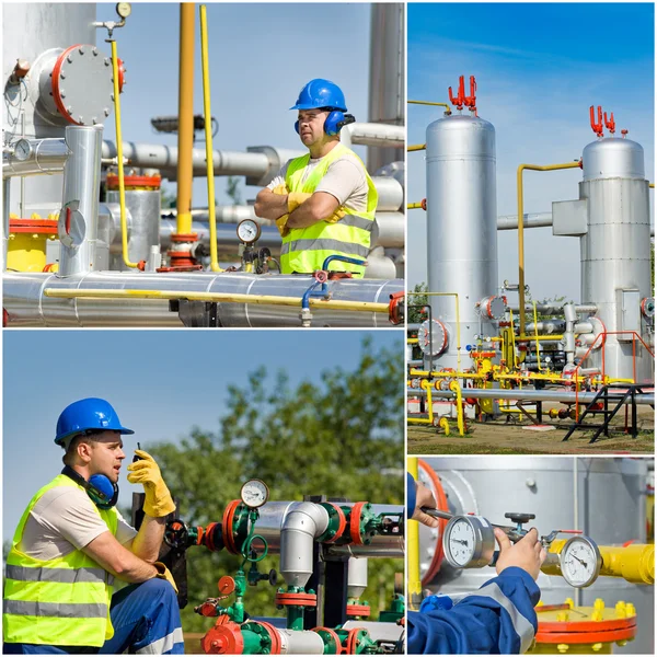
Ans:
[[[59,413],[87,396],[107,399],[128,449],[178,441],[192,426],[217,430],[229,384],[243,387],[261,365],[290,385],[334,367],[353,370],[361,343],[403,351],[403,332],[384,331],[4,331],[2,531],[11,539],[36,491],[61,470],[54,443]],[[400,381],[400,387],[403,381]],[[119,504],[132,491],[125,466]]]

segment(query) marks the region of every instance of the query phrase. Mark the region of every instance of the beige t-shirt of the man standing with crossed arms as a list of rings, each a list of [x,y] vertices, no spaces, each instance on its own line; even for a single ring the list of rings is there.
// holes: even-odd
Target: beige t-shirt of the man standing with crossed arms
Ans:
[[[322,159],[311,158],[309,160],[308,166],[303,171],[303,181]],[[288,160],[284,164],[276,177],[267,185],[267,188],[274,189],[278,185],[285,185],[285,176],[290,162],[291,160]],[[332,196],[335,196],[341,207],[345,207],[354,212],[367,211],[368,186],[365,170],[360,162],[349,155],[337,158],[335,162],[328,164],[326,174],[320,181],[315,192],[327,192]]]

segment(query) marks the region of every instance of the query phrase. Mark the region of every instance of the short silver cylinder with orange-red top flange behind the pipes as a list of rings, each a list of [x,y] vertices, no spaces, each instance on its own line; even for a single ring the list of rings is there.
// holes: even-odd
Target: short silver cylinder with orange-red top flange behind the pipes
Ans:
[[[128,223],[128,258],[132,263],[148,261],[151,246],[160,246],[160,212],[162,197],[159,175],[125,176],[126,208],[129,210]],[[107,174],[107,203],[118,205],[118,176]],[[120,244],[120,224],[116,235]],[[123,247],[110,257],[110,268],[127,270],[129,267],[123,258]]]

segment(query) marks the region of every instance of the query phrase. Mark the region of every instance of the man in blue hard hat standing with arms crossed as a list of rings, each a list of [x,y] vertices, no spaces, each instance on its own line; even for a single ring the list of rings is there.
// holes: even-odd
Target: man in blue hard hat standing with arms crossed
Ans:
[[[378,194],[360,158],[339,142],[354,123],[345,95],[330,80],[311,80],[290,110],[308,153],[286,162],[255,199],[255,214],[275,219],[283,238],[284,274],[324,268],[355,278],[365,273]]]

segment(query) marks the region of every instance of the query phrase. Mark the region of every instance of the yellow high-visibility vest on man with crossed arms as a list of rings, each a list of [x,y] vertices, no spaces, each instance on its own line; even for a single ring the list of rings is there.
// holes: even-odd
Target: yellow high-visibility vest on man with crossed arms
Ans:
[[[327,155],[322,158],[321,162],[304,181],[302,180],[303,170],[308,166],[310,153],[296,158],[288,165],[285,182],[290,193],[312,194],[326,174],[330,164],[345,155],[356,159],[362,166],[368,186],[367,210],[356,212],[343,207],[342,209],[346,214],[335,223],[319,221],[309,228],[290,229],[290,232],[283,238],[280,250],[280,269],[284,274],[295,272],[308,274],[321,269],[324,261],[330,255],[344,255],[359,260],[367,258],[379,195],[365,164],[354,151],[342,143],[337,143]],[[328,269],[351,272],[354,278],[362,278],[365,274],[362,265],[339,261],[332,262]]]

